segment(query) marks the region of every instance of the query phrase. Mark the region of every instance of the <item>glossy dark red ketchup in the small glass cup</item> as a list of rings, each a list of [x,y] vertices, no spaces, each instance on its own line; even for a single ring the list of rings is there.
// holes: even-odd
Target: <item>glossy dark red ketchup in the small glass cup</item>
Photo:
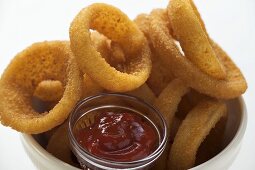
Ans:
[[[146,118],[130,111],[103,112],[75,136],[93,155],[118,162],[145,158],[159,142],[155,127]]]

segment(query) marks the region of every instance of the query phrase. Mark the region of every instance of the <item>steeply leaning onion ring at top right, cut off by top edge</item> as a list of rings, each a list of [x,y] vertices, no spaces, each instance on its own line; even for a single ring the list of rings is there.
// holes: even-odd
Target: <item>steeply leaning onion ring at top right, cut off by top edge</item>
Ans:
[[[204,23],[192,0],[171,0],[167,10],[173,34],[185,56],[201,71],[217,79],[226,73],[215,54]]]

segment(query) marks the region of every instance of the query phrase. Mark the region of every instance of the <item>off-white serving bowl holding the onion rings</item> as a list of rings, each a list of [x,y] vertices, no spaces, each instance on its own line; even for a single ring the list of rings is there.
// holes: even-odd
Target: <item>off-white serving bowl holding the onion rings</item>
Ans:
[[[227,102],[228,120],[224,135],[225,148],[212,159],[192,170],[228,169],[235,160],[247,126],[246,106],[242,97]],[[31,135],[21,134],[26,153],[38,169],[78,170],[47,152]]]

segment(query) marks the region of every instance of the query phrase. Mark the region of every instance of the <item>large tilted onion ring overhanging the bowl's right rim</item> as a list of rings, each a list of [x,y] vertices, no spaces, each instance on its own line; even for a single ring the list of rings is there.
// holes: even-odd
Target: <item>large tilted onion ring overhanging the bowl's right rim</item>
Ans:
[[[166,22],[157,15],[150,15],[150,38],[159,57],[169,65],[174,75],[185,84],[212,97],[231,99],[240,96],[247,89],[244,76],[230,57],[213,41],[212,47],[224,65],[227,77],[218,80],[203,73],[187,58],[183,57],[169,33]]]

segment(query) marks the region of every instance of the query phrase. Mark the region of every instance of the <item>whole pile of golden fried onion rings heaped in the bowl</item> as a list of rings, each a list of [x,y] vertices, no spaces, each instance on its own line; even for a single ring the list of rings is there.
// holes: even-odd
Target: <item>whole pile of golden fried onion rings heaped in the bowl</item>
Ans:
[[[80,97],[125,92],[154,105],[167,121],[168,145],[153,168],[187,169],[218,153],[220,141],[212,138],[224,135],[214,131],[227,119],[218,99],[238,97],[246,88],[192,0],[171,0],[167,9],[134,22],[96,3],[74,18],[70,44],[36,43],[15,56],[0,80],[0,120],[20,132],[44,132],[46,149],[76,166],[64,120]]]

